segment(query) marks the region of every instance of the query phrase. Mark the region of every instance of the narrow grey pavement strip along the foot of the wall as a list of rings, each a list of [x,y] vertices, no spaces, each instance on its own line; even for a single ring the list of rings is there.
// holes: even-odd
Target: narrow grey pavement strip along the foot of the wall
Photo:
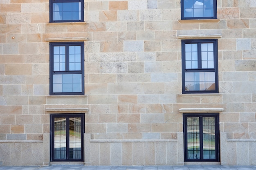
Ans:
[[[256,170],[256,166],[184,165],[184,166],[0,166],[0,170]]]

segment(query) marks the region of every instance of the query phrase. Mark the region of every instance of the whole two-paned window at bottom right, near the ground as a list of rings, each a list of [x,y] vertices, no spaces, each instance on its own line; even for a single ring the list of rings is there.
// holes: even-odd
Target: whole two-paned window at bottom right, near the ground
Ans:
[[[220,161],[219,113],[183,114],[184,161]]]

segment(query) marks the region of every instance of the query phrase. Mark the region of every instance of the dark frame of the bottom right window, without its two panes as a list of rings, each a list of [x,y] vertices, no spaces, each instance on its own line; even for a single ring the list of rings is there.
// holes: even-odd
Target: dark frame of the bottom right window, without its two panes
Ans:
[[[200,118],[200,159],[188,159],[187,155],[187,117]],[[216,159],[203,159],[203,137],[202,137],[202,117],[215,117],[215,148]],[[220,125],[219,113],[183,113],[183,132],[184,132],[184,161],[185,162],[219,162],[220,161]]]

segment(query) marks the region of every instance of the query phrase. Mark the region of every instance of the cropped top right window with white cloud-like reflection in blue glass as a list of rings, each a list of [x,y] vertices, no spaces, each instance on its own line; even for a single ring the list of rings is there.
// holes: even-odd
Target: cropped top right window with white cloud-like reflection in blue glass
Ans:
[[[181,19],[217,19],[217,0],[181,0]]]

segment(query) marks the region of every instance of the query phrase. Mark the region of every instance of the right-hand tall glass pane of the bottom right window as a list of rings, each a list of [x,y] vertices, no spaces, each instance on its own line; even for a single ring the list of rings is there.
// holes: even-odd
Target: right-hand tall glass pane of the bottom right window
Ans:
[[[203,117],[204,159],[215,159],[215,117]]]

